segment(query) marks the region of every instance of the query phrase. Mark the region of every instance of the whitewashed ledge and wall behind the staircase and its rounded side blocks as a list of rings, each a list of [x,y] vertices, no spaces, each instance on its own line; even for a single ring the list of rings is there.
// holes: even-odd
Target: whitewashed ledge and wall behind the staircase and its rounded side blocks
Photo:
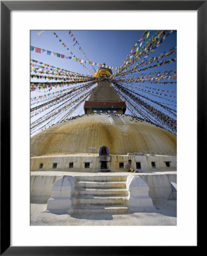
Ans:
[[[110,172],[96,174],[91,172],[64,172],[64,171],[33,171],[31,172],[31,198],[33,201],[40,200],[42,203],[47,203],[47,200],[51,196],[51,187],[60,176],[72,176],[72,177],[93,177],[98,176],[129,176],[138,175],[142,178],[150,188],[149,196],[151,198],[163,197],[168,199],[171,193],[170,181],[177,183],[176,171],[165,172],[153,172],[153,173],[136,173],[131,174],[129,172]]]

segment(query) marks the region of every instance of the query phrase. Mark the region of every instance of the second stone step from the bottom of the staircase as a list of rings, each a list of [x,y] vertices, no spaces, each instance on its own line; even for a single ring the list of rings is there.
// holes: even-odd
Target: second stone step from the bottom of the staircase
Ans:
[[[84,204],[84,205],[126,205],[127,199],[126,197],[81,197],[77,198],[74,197],[72,199],[72,205],[78,205],[78,204]]]

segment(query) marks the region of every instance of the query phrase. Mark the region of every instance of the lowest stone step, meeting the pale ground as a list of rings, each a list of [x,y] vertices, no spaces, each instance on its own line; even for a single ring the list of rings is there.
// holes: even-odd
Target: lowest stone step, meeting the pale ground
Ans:
[[[121,214],[128,212],[128,207],[123,205],[74,205],[71,210],[71,214]]]

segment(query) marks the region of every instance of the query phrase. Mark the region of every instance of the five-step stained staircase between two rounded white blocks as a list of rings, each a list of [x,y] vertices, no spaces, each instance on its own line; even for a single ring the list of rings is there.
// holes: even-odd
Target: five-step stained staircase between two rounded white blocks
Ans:
[[[128,213],[126,176],[77,176],[71,214]]]

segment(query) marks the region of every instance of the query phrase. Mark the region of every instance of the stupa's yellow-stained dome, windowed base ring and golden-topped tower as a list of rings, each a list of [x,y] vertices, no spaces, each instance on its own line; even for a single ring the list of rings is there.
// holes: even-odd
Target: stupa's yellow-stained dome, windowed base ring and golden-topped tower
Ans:
[[[125,115],[110,82],[111,69],[99,68],[100,81],[85,115],[57,123],[31,138],[31,170],[176,170],[176,135],[143,119]],[[104,163],[103,163],[104,162]]]

